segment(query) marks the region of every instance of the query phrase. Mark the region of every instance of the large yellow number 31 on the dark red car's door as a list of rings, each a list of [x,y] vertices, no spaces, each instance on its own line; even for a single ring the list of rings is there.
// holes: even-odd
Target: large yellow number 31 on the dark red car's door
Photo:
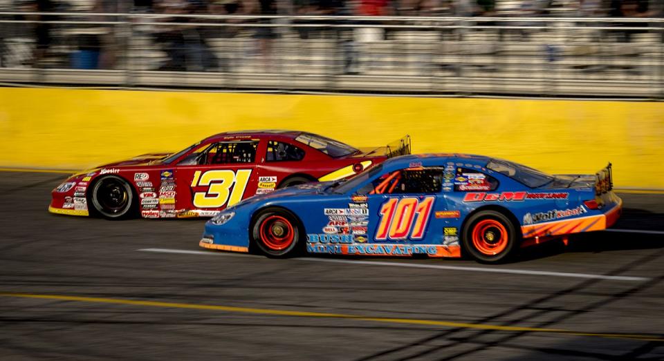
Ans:
[[[234,172],[230,169],[208,170],[201,175],[196,170],[192,180],[195,186],[208,186],[206,192],[194,193],[194,206],[198,208],[221,208],[232,206],[242,200],[244,190],[247,188],[251,169],[239,169]],[[230,188],[233,188],[232,191]],[[226,204],[228,202],[228,204]]]

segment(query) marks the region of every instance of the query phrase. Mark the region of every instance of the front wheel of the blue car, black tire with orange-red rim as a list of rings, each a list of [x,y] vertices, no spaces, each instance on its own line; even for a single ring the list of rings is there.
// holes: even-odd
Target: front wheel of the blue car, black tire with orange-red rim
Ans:
[[[251,226],[252,246],[268,257],[286,258],[302,253],[304,230],[299,219],[284,208],[266,208]]]

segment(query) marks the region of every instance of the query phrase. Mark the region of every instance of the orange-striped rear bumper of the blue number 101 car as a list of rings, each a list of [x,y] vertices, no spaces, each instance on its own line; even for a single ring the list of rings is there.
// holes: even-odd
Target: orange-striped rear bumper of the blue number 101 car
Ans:
[[[571,233],[602,231],[609,228],[616,223],[623,213],[623,199],[615,195],[614,197],[614,206],[598,215],[522,226],[521,231],[524,240],[538,239],[539,237],[564,236]]]

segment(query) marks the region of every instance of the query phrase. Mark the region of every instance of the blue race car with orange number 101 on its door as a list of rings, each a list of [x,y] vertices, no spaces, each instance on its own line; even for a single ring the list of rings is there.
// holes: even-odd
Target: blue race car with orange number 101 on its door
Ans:
[[[205,248],[461,257],[501,262],[522,246],[614,224],[623,201],[611,164],[594,175],[547,175],[464,154],[388,159],[345,182],[257,195],[205,224]]]

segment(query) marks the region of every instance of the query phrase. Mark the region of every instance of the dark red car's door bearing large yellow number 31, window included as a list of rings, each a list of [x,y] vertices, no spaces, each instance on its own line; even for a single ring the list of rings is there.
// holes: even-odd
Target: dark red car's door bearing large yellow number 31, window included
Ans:
[[[196,164],[178,165],[175,208],[210,216],[254,195],[258,145],[254,139],[216,142],[196,155]],[[168,179],[162,177],[162,184],[164,181]]]

